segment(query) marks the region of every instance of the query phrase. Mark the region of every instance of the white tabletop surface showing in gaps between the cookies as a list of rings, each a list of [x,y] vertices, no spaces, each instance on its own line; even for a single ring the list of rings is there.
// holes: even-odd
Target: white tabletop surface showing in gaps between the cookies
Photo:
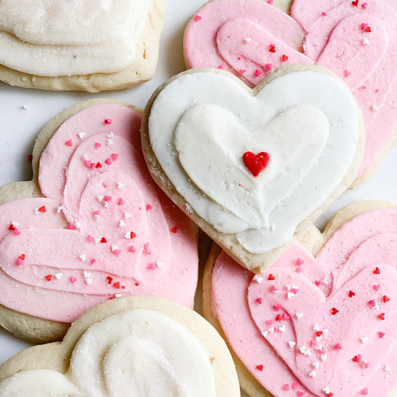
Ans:
[[[166,22],[160,45],[160,59],[154,78],[138,87],[99,94],[52,92],[10,87],[0,83],[0,185],[32,177],[28,154],[43,126],[67,107],[86,99],[108,97],[144,108],[152,92],[169,77],[185,70],[183,32],[204,0],[165,0]],[[28,107],[22,109],[22,105]],[[397,202],[397,146],[366,184],[346,192],[317,222],[324,227],[340,207],[360,200]],[[1,291],[0,291],[1,293]],[[0,328],[0,364],[29,343]]]

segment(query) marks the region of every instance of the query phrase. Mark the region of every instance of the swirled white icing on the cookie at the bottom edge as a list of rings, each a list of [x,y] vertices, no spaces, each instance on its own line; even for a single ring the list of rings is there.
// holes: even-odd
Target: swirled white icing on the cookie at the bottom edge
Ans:
[[[0,383],[2,397],[215,397],[208,354],[169,317],[135,309],[91,326],[68,372],[28,370]]]

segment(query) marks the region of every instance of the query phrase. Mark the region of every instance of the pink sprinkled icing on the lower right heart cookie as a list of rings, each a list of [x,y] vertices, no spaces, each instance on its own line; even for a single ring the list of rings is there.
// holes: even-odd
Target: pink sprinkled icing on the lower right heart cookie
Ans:
[[[299,273],[298,259],[304,261]],[[380,274],[374,273],[377,267]],[[270,274],[274,280],[268,279]],[[282,387],[288,384],[292,389],[296,382],[296,390],[311,397],[325,396],[326,387],[334,396],[358,397],[368,388],[369,395],[387,397],[396,389],[396,208],[367,212],[345,223],[316,259],[294,243],[261,275],[261,283],[253,276],[222,252],[212,275],[212,309],[233,350],[266,390],[275,397],[289,397]],[[323,280],[319,287],[316,280]],[[289,285],[295,290],[290,299]],[[349,297],[349,291],[355,295]],[[384,302],[385,295],[389,302]],[[369,304],[372,300],[379,308]],[[333,308],[338,310],[335,315]],[[298,319],[296,313],[303,316]],[[381,313],[384,321],[378,317]],[[290,319],[277,321],[278,314]],[[315,324],[319,331],[328,330],[319,340]],[[379,331],[385,333],[382,338]],[[362,342],[362,337],[368,340]],[[296,345],[289,347],[289,341]],[[342,349],[335,348],[337,343]],[[319,344],[321,350],[316,350]],[[301,346],[311,355],[301,353]],[[327,355],[325,361],[321,354]],[[360,354],[359,362],[352,360]],[[313,362],[319,363],[318,369]],[[262,372],[256,368],[261,364]],[[385,370],[387,365],[391,372]],[[313,370],[316,377],[308,375]]]

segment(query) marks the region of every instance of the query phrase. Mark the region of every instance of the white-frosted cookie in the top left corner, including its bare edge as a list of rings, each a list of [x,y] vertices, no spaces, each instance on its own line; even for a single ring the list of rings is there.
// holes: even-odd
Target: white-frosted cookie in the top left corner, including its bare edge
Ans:
[[[0,3],[0,80],[48,90],[121,89],[154,75],[163,0]]]

